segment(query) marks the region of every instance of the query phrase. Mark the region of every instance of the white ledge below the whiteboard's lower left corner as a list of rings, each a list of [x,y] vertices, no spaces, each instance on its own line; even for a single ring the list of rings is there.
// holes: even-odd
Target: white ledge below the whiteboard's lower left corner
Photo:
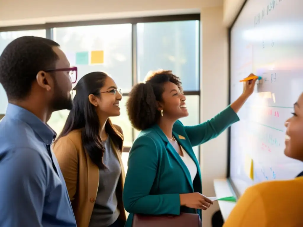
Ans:
[[[214,188],[217,198],[234,196],[228,179],[214,179]],[[236,202],[218,201],[223,220],[226,221]]]

